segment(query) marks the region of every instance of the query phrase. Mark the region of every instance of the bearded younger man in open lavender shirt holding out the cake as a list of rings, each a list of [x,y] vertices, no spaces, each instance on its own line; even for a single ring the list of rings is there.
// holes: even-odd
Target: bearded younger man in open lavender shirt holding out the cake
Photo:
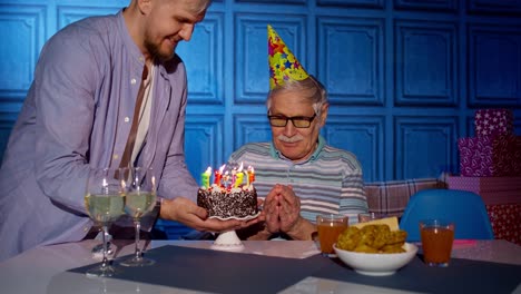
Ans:
[[[153,167],[164,218],[198,231],[246,225],[208,219],[185,165],[186,71],[175,48],[209,4],[132,0],[46,43],[0,169],[0,261],[92,231],[83,206],[92,167]]]

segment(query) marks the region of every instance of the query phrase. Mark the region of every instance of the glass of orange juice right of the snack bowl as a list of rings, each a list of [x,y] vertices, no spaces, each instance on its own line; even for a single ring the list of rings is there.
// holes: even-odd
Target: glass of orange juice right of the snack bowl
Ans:
[[[454,223],[444,219],[420,220],[423,259],[430,266],[446,267],[454,242]]]

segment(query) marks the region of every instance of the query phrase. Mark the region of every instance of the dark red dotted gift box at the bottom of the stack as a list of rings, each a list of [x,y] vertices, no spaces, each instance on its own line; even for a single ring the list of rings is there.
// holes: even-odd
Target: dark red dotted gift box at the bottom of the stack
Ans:
[[[521,204],[485,205],[497,239],[521,246]]]

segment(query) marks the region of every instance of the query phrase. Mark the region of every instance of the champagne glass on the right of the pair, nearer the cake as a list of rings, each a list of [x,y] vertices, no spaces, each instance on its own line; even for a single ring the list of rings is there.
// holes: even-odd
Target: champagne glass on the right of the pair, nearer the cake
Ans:
[[[150,213],[156,206],[156,175],[153,168],[130,168],[130,186],[125,196],[125,212],[134,219],[136,228],[135,254],[131,258],[120,262],[122,266],[147,266],[155,263],[154,259],[142,256],[139,248],[139,232],[141,231],[141,217]]]

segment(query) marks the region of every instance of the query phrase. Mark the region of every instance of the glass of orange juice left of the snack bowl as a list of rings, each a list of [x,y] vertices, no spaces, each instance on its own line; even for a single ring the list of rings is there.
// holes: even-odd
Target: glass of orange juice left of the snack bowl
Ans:
[[[322,255],[335,257],[333,244],[338,239],[338,235],[347,228],[348,217],[337,214],[322,214],[316,216],[316,228]]]

